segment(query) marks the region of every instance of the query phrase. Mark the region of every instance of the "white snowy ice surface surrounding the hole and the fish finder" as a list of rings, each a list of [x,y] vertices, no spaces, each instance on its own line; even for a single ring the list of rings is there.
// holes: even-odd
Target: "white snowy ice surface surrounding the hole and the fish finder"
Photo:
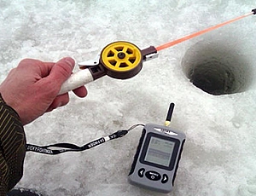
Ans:
[[[254,7],[253,0],[0,0],[0,81],[23,58],[88,61],[119,40],[142,49],[158,46]],[[256,82],[240,93],[209,95],[189,83],[182,67],[189,48],[218,40],[238,49],[254,74],[255,20],[249,16],[160,51],[134,78],[104,77],[86,85],[86,98],[71,95],[66,107],[26,125],[27,142],[83,145],[132,124],[163,124],[174,102],[171,126],[183,130],[187,141],[167,195],[256,195]],[[140,135],[141,129],[132,130],[83,153],[27,153],[17,187],[44,195],[166,195],[127,182]]]

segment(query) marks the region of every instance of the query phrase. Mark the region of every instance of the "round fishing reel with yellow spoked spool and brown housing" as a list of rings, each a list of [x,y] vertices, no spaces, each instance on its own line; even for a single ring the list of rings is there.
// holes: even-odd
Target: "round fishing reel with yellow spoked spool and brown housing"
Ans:
[[[143,55],[133,43],[114,42],[102,49],[100,62],[107,69],[108,76],[126,79],[141,71]]]

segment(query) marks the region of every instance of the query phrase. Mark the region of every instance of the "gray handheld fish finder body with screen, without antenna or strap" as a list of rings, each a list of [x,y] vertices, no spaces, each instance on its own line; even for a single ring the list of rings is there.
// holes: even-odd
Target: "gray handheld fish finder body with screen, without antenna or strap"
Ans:
[[[128,182],[161,193],[172,191],[186,135],[158,124],[146,124]]]

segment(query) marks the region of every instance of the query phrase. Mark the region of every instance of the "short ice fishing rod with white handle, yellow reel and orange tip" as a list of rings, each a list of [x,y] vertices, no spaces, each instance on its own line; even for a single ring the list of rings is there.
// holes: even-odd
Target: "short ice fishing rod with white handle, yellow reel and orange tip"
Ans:
[[[143,68],[143,62],[158,57],[158,52],[162,49],[170,48],[178,43],[183,43],[194,37],[198,37],[204,33],[211,32],[221,26],[228,25],[237,20],[241,20],[249,15],[256,14],[256,9],[250,13],[236,17],[235,19],[225,21],[216,26],[208,27],[189,34],[188,36],[178,38],[172,42],[164,43],[160,46],[150,46],[147,49],[139,49],[135,44],[119,41],[108,44],[95,60],[84,61],[79,63],[80,71],[71,75],[67,81],[62,84],[59,95],[67,93],[72,89],[77,89],[84,84],[102,78],[108,75],[111,78],[127,79],[137,75]]]

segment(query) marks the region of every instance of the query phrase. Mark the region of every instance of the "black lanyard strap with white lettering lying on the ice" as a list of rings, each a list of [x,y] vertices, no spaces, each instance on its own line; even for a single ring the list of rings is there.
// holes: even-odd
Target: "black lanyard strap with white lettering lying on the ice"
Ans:
[[[128,130],[118,130],[111,135],[102,137],[95,141],[90,141],[89,143],[84,144],[84,146],[82,147],[79,147],[75,144],[70,144],[70,143],[56,143],[56,144],[42,146],[42,147],[39,147],[33,144],[26,144],[26,152],[44,153],[49,155],[55,155],[55,154],[66,153],[66,152],[80,152],[80,151],[88,150],[92,147],[96,147],[106,141],[110,141],[110,140],[122,137],[126,135],[130,130],[133,130],[134,128],[136,128],[137,126],[144,126],[144,124],[135,124],[131,126]],[[51,149],[50,147],[55,147],[55,148],[62,147],[62,149]]]

